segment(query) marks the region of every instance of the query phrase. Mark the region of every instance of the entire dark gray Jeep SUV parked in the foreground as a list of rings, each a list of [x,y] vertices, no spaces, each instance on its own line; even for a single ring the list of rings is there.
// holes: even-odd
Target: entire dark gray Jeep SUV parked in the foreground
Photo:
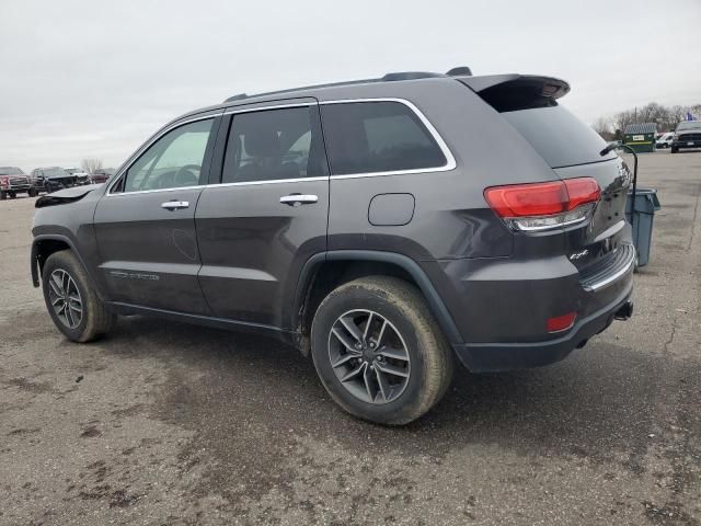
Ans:
[[[233,96],[39,198],[34,285],[72,341],[135,313],[258,331],[411,422],[457,363],[550,364],[632,312],[631,172],[568,90],[459,68]]]

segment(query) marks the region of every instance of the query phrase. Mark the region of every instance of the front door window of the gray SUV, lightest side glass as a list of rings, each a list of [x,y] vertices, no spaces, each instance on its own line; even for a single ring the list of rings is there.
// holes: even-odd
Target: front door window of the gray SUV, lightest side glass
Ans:
[[[214,118],[180,126],[153,142],[129,167],[123,192],[179,188],[203,184],[202,164]]]

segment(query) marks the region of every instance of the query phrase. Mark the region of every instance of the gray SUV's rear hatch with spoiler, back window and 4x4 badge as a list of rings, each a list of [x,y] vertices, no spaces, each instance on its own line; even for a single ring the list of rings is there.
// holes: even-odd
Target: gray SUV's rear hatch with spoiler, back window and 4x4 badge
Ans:
[[[542,157],[561,180],[593,178],[601,190],[589,219],[563,227],[564,250],[584,274],[599,272],[616,258],[624,230],[631,171],[589,126],[556,101],[570,91],[566,82],[520,75],[462,77],[461,82],[499,112]],[[588,271],[588,272],[587,272]]]

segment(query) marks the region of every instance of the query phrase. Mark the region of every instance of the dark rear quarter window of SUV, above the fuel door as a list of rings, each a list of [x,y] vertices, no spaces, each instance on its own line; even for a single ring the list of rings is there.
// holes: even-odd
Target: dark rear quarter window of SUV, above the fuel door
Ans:
[[[418,116],[400,102],[322,105],[333,175],[444,167],[448,161]]]

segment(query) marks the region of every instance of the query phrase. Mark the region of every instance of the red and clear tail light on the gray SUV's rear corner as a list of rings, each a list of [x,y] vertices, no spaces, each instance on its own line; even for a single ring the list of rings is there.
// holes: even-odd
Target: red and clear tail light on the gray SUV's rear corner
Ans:
[[[492,186],[484,198],[515,230],[547,230],[586,219],[601,188],[593,178]]]

